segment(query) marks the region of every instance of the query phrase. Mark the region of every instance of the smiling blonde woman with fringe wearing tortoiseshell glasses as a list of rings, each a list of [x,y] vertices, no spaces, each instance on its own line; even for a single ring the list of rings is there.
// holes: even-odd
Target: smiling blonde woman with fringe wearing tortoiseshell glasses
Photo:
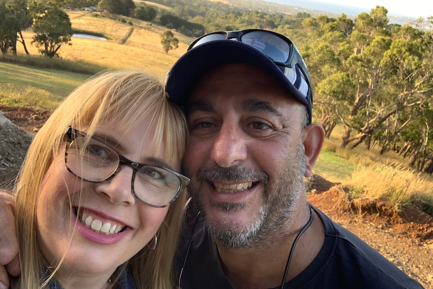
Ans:
[[[172,287],[186,136],[181,110],[144,72],[104,72],[75,89],[20,172],[12,287]]]

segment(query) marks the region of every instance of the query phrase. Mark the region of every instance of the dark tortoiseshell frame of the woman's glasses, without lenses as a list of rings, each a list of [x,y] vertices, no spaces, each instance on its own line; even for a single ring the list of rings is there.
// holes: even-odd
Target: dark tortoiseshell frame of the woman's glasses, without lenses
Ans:
[[[66,135],[68,141],[70,141],[70,143],[72,143],[72,141],[73,141],[74,138],[76,138],[76,137],[87,137],[87,134],[86,134],[85,132],[82,132],[82,131],[79,131],[79,130],[73,129],[72,127],[69,127],[69,128],[68,128],[68,130],[66,131],[65,135]],[[172,169],[169,169],[169,168],[164,167],[164,166],[156,165],[156,164],[145,164],[145,163],[139,163],[139,162],[132,161],[132,160],[126,158],[125,156],[123,156],[123,155],[122,155],[122,154],[121,154],[117,149],[115,149],[114,147],[112,147],[112,146],[109,145],[109,144],[106,144],[104,141],[98,139],[97,137],[92,137],[92,139],[97,140],[97,141],[103,143],[106,147],[112,149],[112,150],[113,150],[113,151],[118,155],[118,157],[119,157],[119,165],[118,165],[117,169],[116,169],[116,170],[115,170],[115,171],[114,171],[114,172],[113,172],[109,177],[107,177],[107,178],[105,178],[105,179],[103,179],[103,180],[98,180],[98,181],[96,181],[96,180],[89,180],[89,179],[86,179],[86,178],[84,178],[84,177],[82,177],[82,176],[79,176],[79,175],[77,175],[76,173],[74,173],[74,172],[69,168],[69,166],[68,166],[68,150],[69,150],[69,147],[70,147],[70,143],[68,142],[67,145],[66,145],[66,149],[65,149],[65,165],[66,165],[66,169],[67,169],[71,174],[73,174],[74,176],[78,177],[79,179],[82,179],[82,180],[85,180],[85,181],[88,181],[88,182],[92,182],[92,183],[102,183],[102,182],[104,182],[104,181],[107,181],[107,180],[112,179],[112,178],[113,178],[113,177],[114,177],[114,176],[115,176],[115,175],[116,175],[116,174],[121,170],[121,168],[122,168],[123,165],[128,165],[128,166],[132,167],[133,170],[134,170],[134,172],[133,172],[133,174],[132,174],[132,178],[131,178],[131,191],[132,191],[133,196],[134,196],[137,200],[139,200],[140,202],[142,202],[142,203],[144,203],[144,204],[146,204],[146,205],[148,205],[148,206],[154,207],[154,208],[164,208],[164,207],[167,207],[168,205],[170,205],[171,203],[173,203],[173,202],[177,199],[177,197],[179,197],[180,192],[181,192],[181,191],[182,191],[182,190],[183,190],[183,189],[184,189],[184,188],[189,184],[189,180],[190,180],[190,179],[189,179],[188,177],[186,177],[186,176],[184,176],[184,175],[182,175],[182,174],[180,174],[180,173],[178,173],[178,172],[176,172],[176,171],[174,171],[174,170],[172,170]],[[149,204],[149,203],[143,201],[142,199],[140,199],[140,198],[137,196],[137,194],[136,194],[136,192],[135,192],[135,189],[134,189],[135,177],[136,177],[136,175],[137,175],[137,172],[138,172],[142,167],[145,167],[145,166],[153,166],[153,167],[160,168],[160,169],[162,169],[162,170],[167,170],[167,171],[169,171],[170,173],[174,174],[177,178],[179,178],[179,180],[180,180],[180,185],[179,185],[179,188],[178,188],[178,190],[177,190],[177,192],[176,192],[176,195],[175,195],[174,198],[173,198],[170,202],[168,202],[167,204],[160,205],[160,206],[158,206],[158,205],[152,205],[152,204]]]

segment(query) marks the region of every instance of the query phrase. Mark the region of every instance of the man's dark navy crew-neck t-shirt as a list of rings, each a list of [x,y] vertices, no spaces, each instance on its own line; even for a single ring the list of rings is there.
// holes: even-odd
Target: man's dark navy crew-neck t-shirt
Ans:
[[[312,208],[324,224],[325,240],[314,260],[285,283],[285,289],[423,288],[360,238]],[[223,271],[214,237],[197,214],[197,207],[190,204],[179,245],[176,280],[181,272],[182,289],[235,289]]]

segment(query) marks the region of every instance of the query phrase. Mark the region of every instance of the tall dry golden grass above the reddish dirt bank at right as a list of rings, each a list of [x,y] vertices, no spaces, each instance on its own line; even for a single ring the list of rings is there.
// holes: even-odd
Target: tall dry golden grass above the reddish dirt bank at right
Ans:
[[[408,169],[409,160],[395,152],[379,154],[377,146],[369,150],[362,144],[354,149],[341,148],[343,132],[343,128],[337,126],[330,139],[325,141],[323,149],[357,164],[351,177],[342,180],[353,188],[352,197],[385,199],[397,208],[414,204],[427,213],[433,213],[431,176]]]

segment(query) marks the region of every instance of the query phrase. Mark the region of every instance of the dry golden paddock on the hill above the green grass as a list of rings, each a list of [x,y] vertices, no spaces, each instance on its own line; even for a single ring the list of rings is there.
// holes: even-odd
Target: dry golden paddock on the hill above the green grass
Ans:
[[[164,80],[167,71],[186,51],[192,38],[185,37],[175,31],[179,39],[179,47],[165,53],[161,45],[161,35],[167,28],[158,25],[147,25],[146,22],[126,18],[133,26],[120,21],[90,16],[89,12],[67,11],[73,29],[101,33],[109,40],[93,40],[72,37],[71,45],[63,45],[59,56],[74,62],[88,62],[115,69],[140,69],[154,74]],[[134,28],[132,35],[124,44],[120,41]],[[31,45],[33,32],[23,33],[30,54],[38,54],[37,48]],[[21,45],[18,53],[24,53]]]

